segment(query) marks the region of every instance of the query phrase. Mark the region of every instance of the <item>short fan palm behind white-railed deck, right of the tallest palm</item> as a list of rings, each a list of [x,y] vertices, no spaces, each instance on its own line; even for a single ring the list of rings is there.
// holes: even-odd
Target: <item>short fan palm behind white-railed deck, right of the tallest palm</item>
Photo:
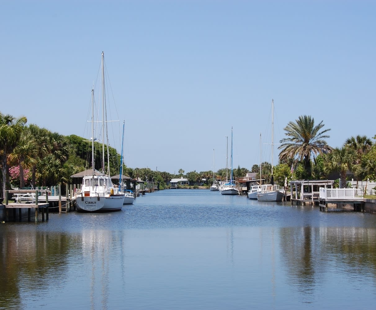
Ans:
[[[340,188],[346,188],[346,172],[356,168],[355,158],[355,150],[347,147],[335,148],[324,156],[324,171],[327,174],[340,172]]]

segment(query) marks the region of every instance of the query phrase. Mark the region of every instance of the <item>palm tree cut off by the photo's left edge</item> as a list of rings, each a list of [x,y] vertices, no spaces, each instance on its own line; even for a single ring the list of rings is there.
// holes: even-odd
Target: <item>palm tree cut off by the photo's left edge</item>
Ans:
[[[17,145],[18,137],[27,122],[26,116],[15,118],[10,114],[0,112],[0,158],[3,174],[3,198],[6,191],[6,172],[8,171],[8,154]]]

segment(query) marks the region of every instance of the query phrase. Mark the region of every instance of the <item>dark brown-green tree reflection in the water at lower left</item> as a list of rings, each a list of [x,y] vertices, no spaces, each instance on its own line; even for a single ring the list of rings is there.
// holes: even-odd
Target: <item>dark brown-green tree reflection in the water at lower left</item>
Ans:
[[[20,291],[44,290],[51,278],[67,269],[67,253],[74,245],[67,234],[30,232],[26,225],[8,225],[0,231],[0,300],[2,308],[23,308]]]

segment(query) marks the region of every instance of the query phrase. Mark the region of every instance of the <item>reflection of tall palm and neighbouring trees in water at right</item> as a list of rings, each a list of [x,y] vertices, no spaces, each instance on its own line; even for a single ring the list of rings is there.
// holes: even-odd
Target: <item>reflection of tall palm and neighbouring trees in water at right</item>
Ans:
[[[279,236],[289,283],[303,298],[317,291],[329,270],[357,278],[376,275],[374,228],[282,227]]]

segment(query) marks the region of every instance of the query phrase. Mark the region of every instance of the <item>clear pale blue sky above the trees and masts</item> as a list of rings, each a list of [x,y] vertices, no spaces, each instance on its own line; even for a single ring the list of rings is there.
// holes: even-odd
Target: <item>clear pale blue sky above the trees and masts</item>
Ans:
[[[90,138],[104,51],[128,167],[217,171],[228,154],[230,168],[231,128],[234,169],[271,162],[272,99],[276,165],[301,115],[332,147],[376,135],[375,14],[361,0],[0,0],[0,111]]]

